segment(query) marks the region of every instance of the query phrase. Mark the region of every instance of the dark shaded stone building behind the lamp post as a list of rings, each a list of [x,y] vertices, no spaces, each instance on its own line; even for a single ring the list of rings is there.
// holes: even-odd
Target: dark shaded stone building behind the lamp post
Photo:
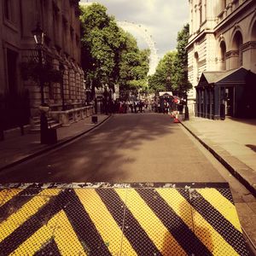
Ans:
[[[31,116],[39,114],[40,86],[22,79],[20,63],[37,52],[32,30],[40,24],[45,34],[44,54],[54,69],[62,67],[63,72],[62,83],[44,86],[44,102],[55,117],[60,117],[56,112],[63,103],[66,109],[83,108],[79,0],[0,0],[0,17],[0,95],[28,90]]]

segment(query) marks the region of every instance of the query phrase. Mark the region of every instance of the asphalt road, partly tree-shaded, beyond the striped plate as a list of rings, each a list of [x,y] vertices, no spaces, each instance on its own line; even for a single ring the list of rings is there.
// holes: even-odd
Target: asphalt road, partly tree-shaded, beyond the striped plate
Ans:
[[[115,114],[73,143],[0,173],[0,183],[224,181],[182,125],[160,113]]]

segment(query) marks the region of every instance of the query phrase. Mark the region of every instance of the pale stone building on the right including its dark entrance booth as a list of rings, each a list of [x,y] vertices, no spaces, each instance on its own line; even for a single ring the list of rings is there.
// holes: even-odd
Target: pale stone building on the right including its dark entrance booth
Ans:
[[[247,77],[252,79],[256,73],[255,10],[253,0],[189,0],[188,75],[194,86],[189,92],[191,112],[213,119],[219,119],[220,112],[239,116],[239,108],[253,112],[252,102],[241,106],[241,101],[246,101],[245,87],[247,94],[248,88],[255,90],[247,83]],[[216,84],[219,88],[215,91]]]

